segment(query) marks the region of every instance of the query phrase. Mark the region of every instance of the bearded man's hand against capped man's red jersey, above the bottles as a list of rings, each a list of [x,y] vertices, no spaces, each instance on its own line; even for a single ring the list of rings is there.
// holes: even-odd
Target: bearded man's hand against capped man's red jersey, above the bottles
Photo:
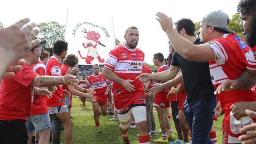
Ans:
[[[221,85],[219,85],[219,87],[217,87],[217,89],[215,90],[214,94],[220,94],[222,91],[232,91],[235,90],[239,87],[238,83],[234,80],[226,80],[223,83],[221,83]]]

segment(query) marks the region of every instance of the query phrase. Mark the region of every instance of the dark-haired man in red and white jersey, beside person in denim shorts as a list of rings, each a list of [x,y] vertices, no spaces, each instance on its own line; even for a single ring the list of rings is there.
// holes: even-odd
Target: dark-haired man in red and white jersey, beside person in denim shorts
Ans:
[[[57,40],[53,45],[53,55],[47,63],[46,66],[46,76],[61,76],[61,65],[59,63],[60,59],[65,59],[68,50],[68,43],[64,40]],[[48,112],[50,114],[50,120],[52,120],[53,115],[61,119],[65,124],[65,142],[66,144],[71,144],[72,142],[72,121],[69,116],[67,106],[65,105],[63,99],[63,88],[62,85],[58,86],[54,92],[52,98],[47,101]],[[57,134],[54,133],[54,137]],[[55,138],[54,138],[55,139]],[[54,140],[53,140],[54,141]]]

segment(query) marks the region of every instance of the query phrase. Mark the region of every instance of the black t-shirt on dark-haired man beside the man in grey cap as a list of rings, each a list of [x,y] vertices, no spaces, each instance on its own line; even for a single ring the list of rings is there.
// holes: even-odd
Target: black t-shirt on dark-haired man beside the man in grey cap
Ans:
[[[202,44],[202,42],[197,39],[194,44]],[[209,62],[191,61],[175,51],[171,65],[180,66],[182,70],[187,102],[192,102],[196,99],[208,100],[215,97]]]

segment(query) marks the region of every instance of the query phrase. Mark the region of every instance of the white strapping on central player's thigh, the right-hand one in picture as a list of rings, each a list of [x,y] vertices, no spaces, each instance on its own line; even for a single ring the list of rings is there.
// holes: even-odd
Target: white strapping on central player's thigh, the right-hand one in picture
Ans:
[[[147,112],[145,106],[132,107],[131,111],[134,116],[135,123],[147,121]]]

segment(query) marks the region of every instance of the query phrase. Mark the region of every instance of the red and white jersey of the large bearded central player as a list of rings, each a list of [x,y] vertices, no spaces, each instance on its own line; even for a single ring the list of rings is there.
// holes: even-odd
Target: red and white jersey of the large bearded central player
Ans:
[[[135,77],[141,74],[144,57],[144,53],[138,48],[132,50],[126,48],[124,44],[121,44],[111,50],[104,67],[113,70],[113,72],[122,79],[134,80],[133,82],[131,82],[131,84],[135,87],[134,92],[137,92],[138,90],[142,90],[144,92],[141,81],[135,79]],[[113,91],[114,95],[130,95],[133,93],[128,92],[122,85],[115,82],[113,82]]]

